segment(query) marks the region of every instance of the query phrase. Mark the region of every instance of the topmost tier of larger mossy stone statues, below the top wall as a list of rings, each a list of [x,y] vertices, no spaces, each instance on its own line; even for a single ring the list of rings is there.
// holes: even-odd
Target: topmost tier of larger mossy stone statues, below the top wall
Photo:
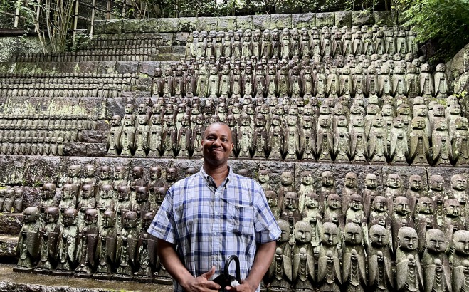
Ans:
[[[282,31],[266,29],[238,30],[238,31],[194,31],[186,41],[186,58],[201,57],[240,57],[240,56],[278,56],[292,58],[293,56],[354,56],[374,53],[382,55],[388,53],[418,54],[416,33],[393,28],[373,26],[358,26],[349,28],[344,26],[332,28],[316,27],[283,28]]]

